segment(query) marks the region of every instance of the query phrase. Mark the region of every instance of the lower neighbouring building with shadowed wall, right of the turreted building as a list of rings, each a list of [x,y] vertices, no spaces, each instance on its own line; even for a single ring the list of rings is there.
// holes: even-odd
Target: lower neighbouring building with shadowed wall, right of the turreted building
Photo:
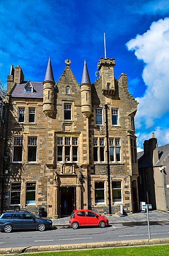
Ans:
[[[158,146],[157,138],[144,141],[144,151],[137,153],[139,165],[139,201],[153,209],[168,211],[169,144]]]

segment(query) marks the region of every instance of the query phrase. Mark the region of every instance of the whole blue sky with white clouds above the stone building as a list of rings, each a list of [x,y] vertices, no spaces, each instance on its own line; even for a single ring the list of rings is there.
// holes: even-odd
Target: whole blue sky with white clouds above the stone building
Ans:
[[[55,82],[65,59],[81,83],[86,59],[91,83],[97,62],[115,58],[115,79],[127,73],[139,102],[137,147],[155,132],[169,143],[169,0],[0,0],[0,79],[6,89],[11,64],[25,80],[43,81],[51,57]]]

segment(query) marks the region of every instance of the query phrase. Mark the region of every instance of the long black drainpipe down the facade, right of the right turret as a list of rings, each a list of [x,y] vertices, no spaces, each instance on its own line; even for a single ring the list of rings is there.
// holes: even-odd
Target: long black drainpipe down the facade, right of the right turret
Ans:
[[[109,201],[109,214],[112,214],[111,207],[111,191],[110,191],[110,157],[109,157],[109,125],[108,125],[108,105],[105,104],[105,124],[106,124],[106,144],[107,144],[107,169],[108,169],[108,201]]]

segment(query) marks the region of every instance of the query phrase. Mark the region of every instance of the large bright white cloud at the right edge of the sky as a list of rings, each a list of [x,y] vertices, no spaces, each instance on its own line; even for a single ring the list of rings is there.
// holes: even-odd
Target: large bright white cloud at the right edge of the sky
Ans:
[[[145,63],[143,80],[147,89],[138,97],[136,127],[152,127],[154,120],[169,111],[169,18],[153,22],[143,35],[127,42],[128,50]]]

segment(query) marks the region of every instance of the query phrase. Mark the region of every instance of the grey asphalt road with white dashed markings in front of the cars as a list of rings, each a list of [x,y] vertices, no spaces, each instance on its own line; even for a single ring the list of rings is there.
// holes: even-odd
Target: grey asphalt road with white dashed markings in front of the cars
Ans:
[[[150,226],[151,238],[169,237],[168,224]],[[121,241],[148,239],[147,225],[127,226],[114,224],[106,228],[79,228],[59,227],[51,231],[15,231],[0,233],[0,248],[38,245],[81,244],[88,242]]]

